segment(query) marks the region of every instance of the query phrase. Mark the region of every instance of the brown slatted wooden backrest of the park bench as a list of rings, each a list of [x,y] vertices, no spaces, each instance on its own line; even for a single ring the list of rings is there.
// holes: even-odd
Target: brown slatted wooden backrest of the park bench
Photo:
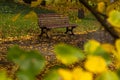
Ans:
[[[69,24],[69,18],[67,16],[55,13],[39,14],[38,24],[40,27],[49,25],[64,25]]]

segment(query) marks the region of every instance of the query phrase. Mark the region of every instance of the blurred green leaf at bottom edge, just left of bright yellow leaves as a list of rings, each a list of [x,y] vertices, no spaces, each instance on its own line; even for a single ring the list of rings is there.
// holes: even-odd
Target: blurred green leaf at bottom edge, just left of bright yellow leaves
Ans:
[[[60,80],[60,75],[57,70],[50,70],[44,80]]]

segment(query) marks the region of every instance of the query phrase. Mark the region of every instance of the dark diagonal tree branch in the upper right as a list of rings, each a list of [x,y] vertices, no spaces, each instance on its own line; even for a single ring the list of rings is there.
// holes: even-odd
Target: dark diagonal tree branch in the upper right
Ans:
[[[95,9],[93,9],[86,0],[79,0],[80,3],[82,3],[95,17],[96,19],[101,23],[101,25],[105,28],[106,31],[108,31],[110,33],[110,35],[117,39],[119,38],[117,32],[114,30],[113,26],[110,25],[107,21],[106,21],[106,17],[102,16],[101,14],[99,14]]]

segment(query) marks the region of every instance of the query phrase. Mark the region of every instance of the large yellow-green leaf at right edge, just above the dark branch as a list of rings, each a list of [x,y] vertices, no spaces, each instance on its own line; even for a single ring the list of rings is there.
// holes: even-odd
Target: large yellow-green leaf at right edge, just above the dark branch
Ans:
[[[108,22],[114,27],[120,28],[120,12],[117,10],[112,10],[109,13]]]

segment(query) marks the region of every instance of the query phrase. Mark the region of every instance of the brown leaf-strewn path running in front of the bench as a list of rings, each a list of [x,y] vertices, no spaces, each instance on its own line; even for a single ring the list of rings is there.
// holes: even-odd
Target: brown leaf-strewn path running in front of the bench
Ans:
[[[12,45],[19,45],[23,49],[28,50],[39,50],[44,56],[54,56],[53,49],[54,45],[58,43],[66,43],[75,47],[83,48],[83,44],[89,39],[96,39],[102,43],[108,42],[113,43],[114,39],[105,31],[89,32],[88,34],[75,34],[74,36],[68,35],[52,35],[50,39],[38,38],[35,36],[29,40],[15,40],[6,41],[0,44],[0,61],[7,61],[5,56],[7,49]],[[53,58],[51,58],[53,59]]]

